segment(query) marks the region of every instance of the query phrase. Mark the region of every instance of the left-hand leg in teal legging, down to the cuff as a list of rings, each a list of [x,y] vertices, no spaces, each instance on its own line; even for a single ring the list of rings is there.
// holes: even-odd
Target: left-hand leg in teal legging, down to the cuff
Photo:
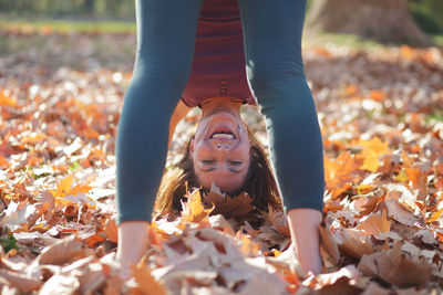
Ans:
[[[151,221],[200,7],[202,0],[136,0],[137,54],[116,139],[117,223]]]

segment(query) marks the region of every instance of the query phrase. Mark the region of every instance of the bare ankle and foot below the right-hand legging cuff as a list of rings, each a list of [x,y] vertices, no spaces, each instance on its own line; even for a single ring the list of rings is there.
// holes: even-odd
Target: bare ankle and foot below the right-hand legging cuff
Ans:
[[[298,208],[289,210],[287,215],[298,261],[306,273],[319,274],[322,267],[319,236],[321,212]]]

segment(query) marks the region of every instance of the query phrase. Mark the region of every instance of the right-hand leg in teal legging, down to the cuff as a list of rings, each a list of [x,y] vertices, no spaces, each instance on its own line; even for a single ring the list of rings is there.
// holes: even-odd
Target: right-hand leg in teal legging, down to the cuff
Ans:
[[[323,157],[303,73],[305,0],[238,0],[248,82],[265,116],[271,162],[287,210],[322,210]]]

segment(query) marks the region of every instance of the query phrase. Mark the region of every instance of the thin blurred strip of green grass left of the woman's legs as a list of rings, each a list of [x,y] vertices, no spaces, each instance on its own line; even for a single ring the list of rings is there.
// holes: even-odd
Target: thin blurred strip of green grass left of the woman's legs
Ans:
[[[3,17],[0,28],[40,33],[135,33],[135,21],[21,19]]]

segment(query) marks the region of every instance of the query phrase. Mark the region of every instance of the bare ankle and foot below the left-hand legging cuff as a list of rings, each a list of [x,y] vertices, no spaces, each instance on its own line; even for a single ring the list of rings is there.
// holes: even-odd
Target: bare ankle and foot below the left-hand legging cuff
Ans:
[[[136,265],[147,250],[150,223],[145,221],[126,221],[119,225],[119,247],[116,259],[121,264],[120,276],[124,280],[132,276],[131,265]]]

